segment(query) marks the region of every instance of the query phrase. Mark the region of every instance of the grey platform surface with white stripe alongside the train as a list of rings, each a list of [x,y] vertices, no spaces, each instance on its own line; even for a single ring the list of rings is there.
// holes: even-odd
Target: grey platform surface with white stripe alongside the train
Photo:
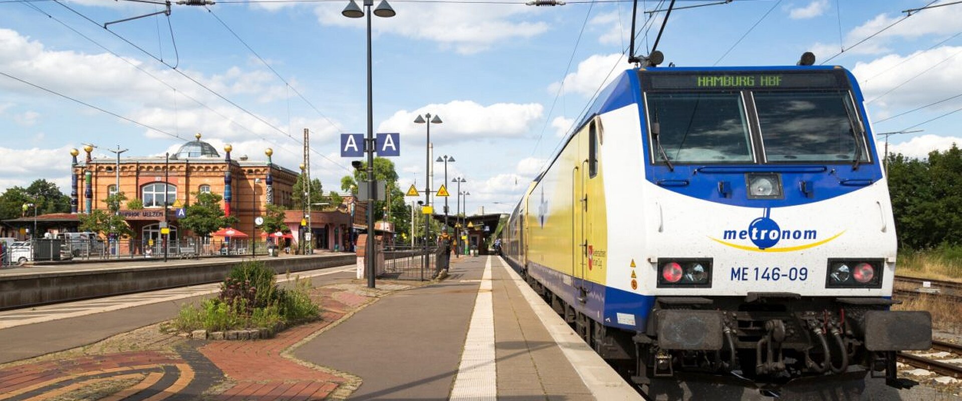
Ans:
[[[293,355],[360,376],[352,400],[641,399],[500,258],[451,266]]]

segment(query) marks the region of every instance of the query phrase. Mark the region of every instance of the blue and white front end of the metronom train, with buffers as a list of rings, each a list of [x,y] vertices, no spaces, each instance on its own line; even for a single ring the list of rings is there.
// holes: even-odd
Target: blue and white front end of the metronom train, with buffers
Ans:
[[[931,318],[889,310],[896,231],[848,71],[648,68],[637,85],[645,206],[625,213],[646,221],[634,290],[654,297],[638,380],[871,371],[906,386],[896,351],[928,349]]]

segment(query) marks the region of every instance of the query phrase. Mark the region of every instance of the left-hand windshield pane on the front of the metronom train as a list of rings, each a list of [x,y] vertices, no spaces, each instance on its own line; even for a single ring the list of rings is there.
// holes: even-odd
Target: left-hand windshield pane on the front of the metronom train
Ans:
[[[751,163],[751,138],[740,92],[647,95],[648,119],[671,163]],[[655,141],[652,140],[652,143]],[[654,161],[665,156],[652,149]]]

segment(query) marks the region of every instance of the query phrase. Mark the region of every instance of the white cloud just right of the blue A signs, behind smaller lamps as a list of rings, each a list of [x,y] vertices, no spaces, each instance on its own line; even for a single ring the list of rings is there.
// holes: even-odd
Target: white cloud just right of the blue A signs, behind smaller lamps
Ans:
[[[537,103],[495,103],[482,106],[469,100],[427,105],[415,111],[398,111],[382,122],[377,132],[421,133],[424,124],[414,122],[418,114],[438,115],[442,124],[431,124],[432,143],[465,139],[519,138],[531,132],[542,118],[544,107]]]

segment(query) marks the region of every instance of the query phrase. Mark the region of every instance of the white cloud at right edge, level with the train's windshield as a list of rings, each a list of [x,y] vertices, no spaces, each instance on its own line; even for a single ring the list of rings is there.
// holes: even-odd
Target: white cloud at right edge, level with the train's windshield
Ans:
[[[912,59],[903,63],[909,58]],[[900,111],[962,92],[962,63],[957,63],[960,58],[962,46],[942,46],[904,57],[887,55],[868,63],[856,63],[851,71],[873,108]],[[917,75],[918,78],[913,78]],[[883,94],[884,97],[873,100]],[[949,102],[933,110],[940,110],[939,107],[955,109],[958,104]]]

